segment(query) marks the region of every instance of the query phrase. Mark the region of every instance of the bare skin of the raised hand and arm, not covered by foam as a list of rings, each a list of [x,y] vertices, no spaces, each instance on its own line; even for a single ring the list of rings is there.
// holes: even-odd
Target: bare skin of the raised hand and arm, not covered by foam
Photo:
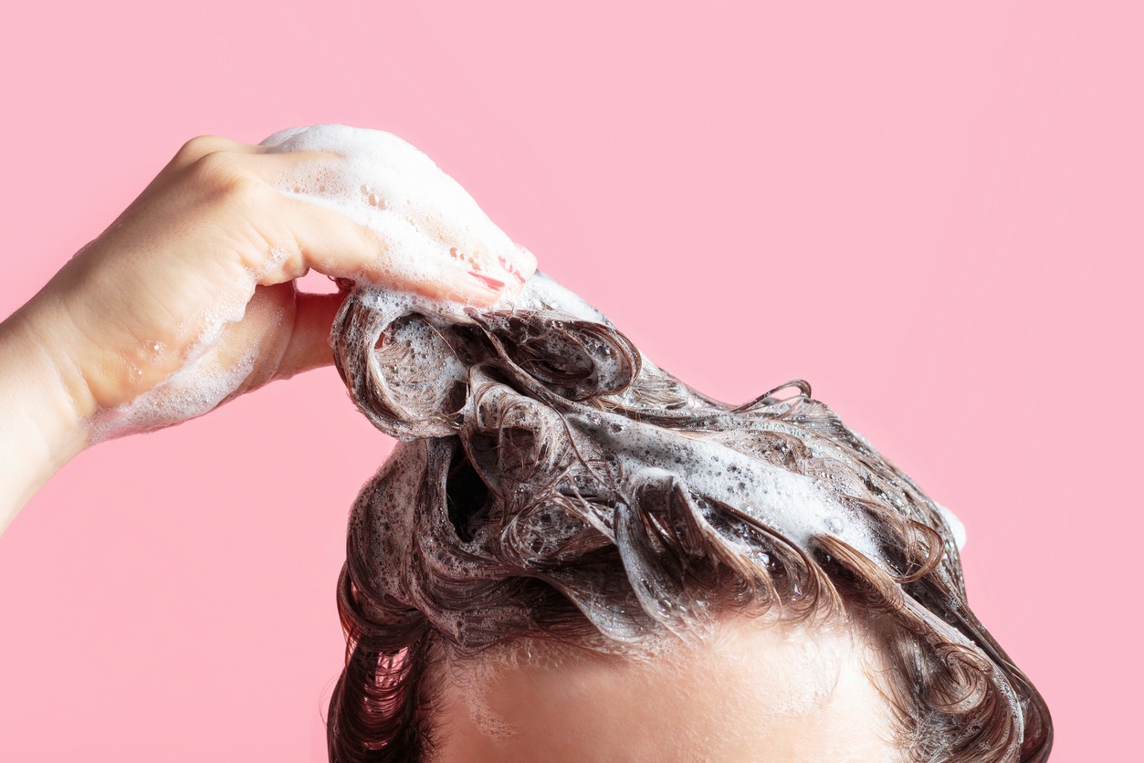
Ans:
[[[100,412],[185,365],[212,316],[245,305],[207,350],[222,365],[256,350],[227,399],[331,364],[327,340],[342,295],[297,292],[294,279],[310,269],[478,305],[500,297],[460,267],[442,281],[396,280],[384,273],[400,252],[336,212],[273,190],[300,162],[332,158],[194,138],[0,324],[0,532],[93,444]],[[535,267],[526,253],[505,255],[525,276]]]

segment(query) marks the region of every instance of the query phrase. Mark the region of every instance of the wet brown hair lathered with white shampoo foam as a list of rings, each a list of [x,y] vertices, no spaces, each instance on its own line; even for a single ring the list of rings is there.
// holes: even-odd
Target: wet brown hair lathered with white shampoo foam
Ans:
[[[1048,708],[967,605],[942,511],[805,382],[718,403],[540,275],[511,310],[355,291],[333,344],[403,442],[350,516],[331,761],[430,760],[442,650],[623,654],[768,612],[871,635],[908,760],[1048,758]]]

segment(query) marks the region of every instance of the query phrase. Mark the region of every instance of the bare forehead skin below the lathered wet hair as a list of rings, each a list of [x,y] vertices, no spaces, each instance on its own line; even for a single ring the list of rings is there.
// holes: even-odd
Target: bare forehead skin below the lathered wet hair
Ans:
[[[650,659],[531,642],[451,660],[434,763],[890,763],[888,706],[849,627],[746,617]]]

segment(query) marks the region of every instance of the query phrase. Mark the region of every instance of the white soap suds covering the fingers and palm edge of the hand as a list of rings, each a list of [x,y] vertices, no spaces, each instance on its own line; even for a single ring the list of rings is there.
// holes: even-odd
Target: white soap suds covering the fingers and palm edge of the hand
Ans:
[[[275,188],[334,209],[381,238],[394,256],[363,272],[359,283],[368,284],[373,299],[391,303],[395,310],[431,304],[460,313],[466,305],[387,288],[378,281],[423,284],[454,294],[458,279],[468,278],[513,299],[535,270],[532,254],[498,228],[456,181],[396,135],[319,125],[275,133],[262,145],[271,153],[332,154],[285,172]],[[255,285],[286,256],[284,251],[271,249],[260,269],[249,270],[230,292],[217,295],[196,317],[193,326],[199,328],[182,366],[129,403],[97,412],[89,442],[168,427],[208,413],[231,397],[254,368],[259,348],[246,348],[236,360],[225,358],[220,344],[243,320]],[[156,366],[166,360],[162,342],[151,342],[144,350],[141,356]],[[137,366],[127,373],[129,379],[144,376]]]

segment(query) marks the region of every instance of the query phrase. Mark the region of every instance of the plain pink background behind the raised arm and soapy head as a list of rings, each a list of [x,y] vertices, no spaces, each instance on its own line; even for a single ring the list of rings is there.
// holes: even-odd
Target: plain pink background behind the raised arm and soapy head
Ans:
[[[192,135],[395,132],[665,367],[810,380],[968,524],[1054,760],[1127,760],[1144,18],[934,5],[19,3],[0,315]],[[390,444],[323,369],[81,454],[0,540],[0,760],[325,760]]]

